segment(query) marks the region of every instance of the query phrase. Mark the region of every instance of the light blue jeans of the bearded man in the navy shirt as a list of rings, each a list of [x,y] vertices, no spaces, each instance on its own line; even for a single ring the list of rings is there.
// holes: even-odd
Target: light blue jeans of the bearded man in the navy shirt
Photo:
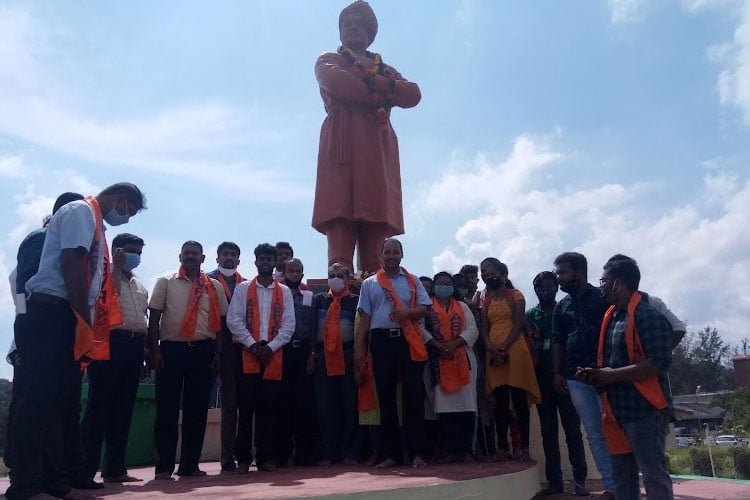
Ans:
[[[602,476],[604,489],[615,491],[615,483],[612,480],[612,460],[602,431],[602,406],[599,394],[594,386],[575,379],[568,379],[568,391],[573,406],[578,416],[581,417],[583,428],[586,429],[586,438],[589,441],[591,454],[594,455],[596,468]]]

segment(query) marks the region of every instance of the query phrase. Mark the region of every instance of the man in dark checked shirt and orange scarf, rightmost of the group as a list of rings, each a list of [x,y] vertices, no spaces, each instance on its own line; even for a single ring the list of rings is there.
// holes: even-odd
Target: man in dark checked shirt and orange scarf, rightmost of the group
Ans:
[[[579,367],[576,377],[602,394],[602,428],[612,456],[617,500],[640,498],[638,472],[650,500],[672,499],[664,454],[671,398],[666,371],[672,362],[672,328],[641,300],[641,273],[634,260],[614,260],[599,280],[607,303],[597,365]]]

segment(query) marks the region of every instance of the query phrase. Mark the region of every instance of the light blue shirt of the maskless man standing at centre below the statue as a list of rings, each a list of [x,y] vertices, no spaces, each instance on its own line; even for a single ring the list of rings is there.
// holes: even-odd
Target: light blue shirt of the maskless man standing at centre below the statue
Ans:
[[[422,286],[422,282],[412,274],[417,285],[417,304],[422,306],[432,306],[432,300],[427,295],[427,291]],[[395,278],[389,278],[396,295],[401,299],[404,308],[408,308],[411,303],[413,290],[409,287],[409,281],[403,270],[400,270]],[[388,316],[393,309],[388,299],[385,298],[383,288],[378,284],[377,275],[372,275],[362,283],[359,291],[358,309],[370,316],[370,329],[374,328],[400,328],[401,325],[391,321]]]

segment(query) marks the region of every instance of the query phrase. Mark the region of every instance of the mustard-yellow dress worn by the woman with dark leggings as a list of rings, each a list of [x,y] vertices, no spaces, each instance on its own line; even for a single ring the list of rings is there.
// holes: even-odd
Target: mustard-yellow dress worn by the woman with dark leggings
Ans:
[[[517,303],[523,300],[523,294],[513,290],[513,300]],[[524,311],[518,311],[520,319],[524,317]],[[513,328],[513,313],[508,306],[505,297],[493,299],[487,309],[487,318],[490,323],[490,343],[498,345],[503,342]],[[537,404],[541,400],[539,384],[536,381],[534,363],[531,360],[528,345],[523,335],[519,336],[513,344],[508,347],[508,361],[499,366],[490,365],[487,357],[487,393],[491,393],[496,387],[509,385],[526,391],[529,405]]]

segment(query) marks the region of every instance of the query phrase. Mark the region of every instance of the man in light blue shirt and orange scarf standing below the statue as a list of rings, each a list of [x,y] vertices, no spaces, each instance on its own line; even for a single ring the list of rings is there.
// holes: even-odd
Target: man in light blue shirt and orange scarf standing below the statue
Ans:
[[[366,362],[367,345],[380,405],[382,454],[378,467],[401,463],[403,450],[411,454],[412,467],[424,467],[424,364],[427,360],[422,319],[432,300],[422,283],[401,267],[403,248],[395,238],[381,246],[383,269],[362,283],[359,326],[355,335],[355,369]],[[399,438],[396,385],[403,387],[406,443]]]

